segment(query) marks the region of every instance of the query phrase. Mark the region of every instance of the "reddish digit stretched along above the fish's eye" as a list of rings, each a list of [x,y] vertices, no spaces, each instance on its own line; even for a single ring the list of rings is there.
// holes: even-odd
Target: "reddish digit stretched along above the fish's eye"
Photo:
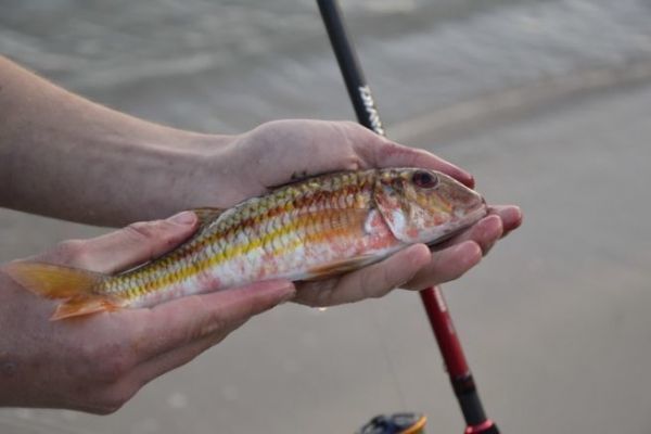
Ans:
[[[380,137],[376,140],[379,143],[375,145],[358,150],[367,155],[374,167],[422,167],[443,171],[470,188],[474,187],[472,175],[427,151],[404,146]]]

